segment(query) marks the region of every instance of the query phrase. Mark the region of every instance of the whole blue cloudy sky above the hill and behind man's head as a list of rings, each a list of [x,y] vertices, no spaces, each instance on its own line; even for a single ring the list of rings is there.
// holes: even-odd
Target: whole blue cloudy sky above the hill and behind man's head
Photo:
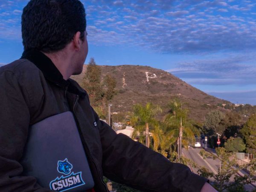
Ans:
[[[28,0],[0,0],[0,63],[23,51]],[[233,103],[256,105],[256,1],[82,0],[90,57],[99,65],[166,70]]]

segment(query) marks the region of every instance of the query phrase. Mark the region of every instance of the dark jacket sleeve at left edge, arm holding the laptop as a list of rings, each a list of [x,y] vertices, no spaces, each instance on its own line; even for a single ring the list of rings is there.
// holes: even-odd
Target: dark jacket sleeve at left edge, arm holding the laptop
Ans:
[[[36,179],[21,176],[19,160],[29,129],[29,99],[22,82],[12,72],[0,73],[0,191],[47,192]]]

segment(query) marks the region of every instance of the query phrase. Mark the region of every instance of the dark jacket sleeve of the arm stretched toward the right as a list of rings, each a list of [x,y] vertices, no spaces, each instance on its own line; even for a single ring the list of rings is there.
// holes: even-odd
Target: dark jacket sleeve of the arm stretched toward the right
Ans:
[[[112,181],[147,192],[200,192],[207,182],[189,167],[172,163],[128,136],[116,134],[99,118],[98,123],[103,172]]]

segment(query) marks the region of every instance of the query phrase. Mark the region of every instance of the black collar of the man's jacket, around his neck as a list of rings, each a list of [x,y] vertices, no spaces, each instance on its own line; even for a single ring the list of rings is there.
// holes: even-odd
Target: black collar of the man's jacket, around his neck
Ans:
[[[83,90],[79,90],[70,80],[64,80],[61,72],[57,67],[52,63],[49,57],[44,53],[36,49],[30,49],[24,51],[20,59],[27,59],[35,64],[38,69],[44,74],[44,77],[52,83],[55,83],[57,86],[62,88],[67,87],[67,91],[82,97],[85,96]]]

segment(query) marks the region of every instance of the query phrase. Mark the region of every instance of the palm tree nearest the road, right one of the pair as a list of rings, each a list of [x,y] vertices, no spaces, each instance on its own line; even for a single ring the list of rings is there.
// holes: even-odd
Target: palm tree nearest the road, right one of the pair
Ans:
[[[188,109],[182,108],[182,104],[179,99],[170,102],[168,107],[171,110],[164,120],[166,134],[176,138],[179,159],[182,155],[182,143],[188,146],[190,142],[195,141],[195,134],[198,135],[198,131],[186,120]]]

